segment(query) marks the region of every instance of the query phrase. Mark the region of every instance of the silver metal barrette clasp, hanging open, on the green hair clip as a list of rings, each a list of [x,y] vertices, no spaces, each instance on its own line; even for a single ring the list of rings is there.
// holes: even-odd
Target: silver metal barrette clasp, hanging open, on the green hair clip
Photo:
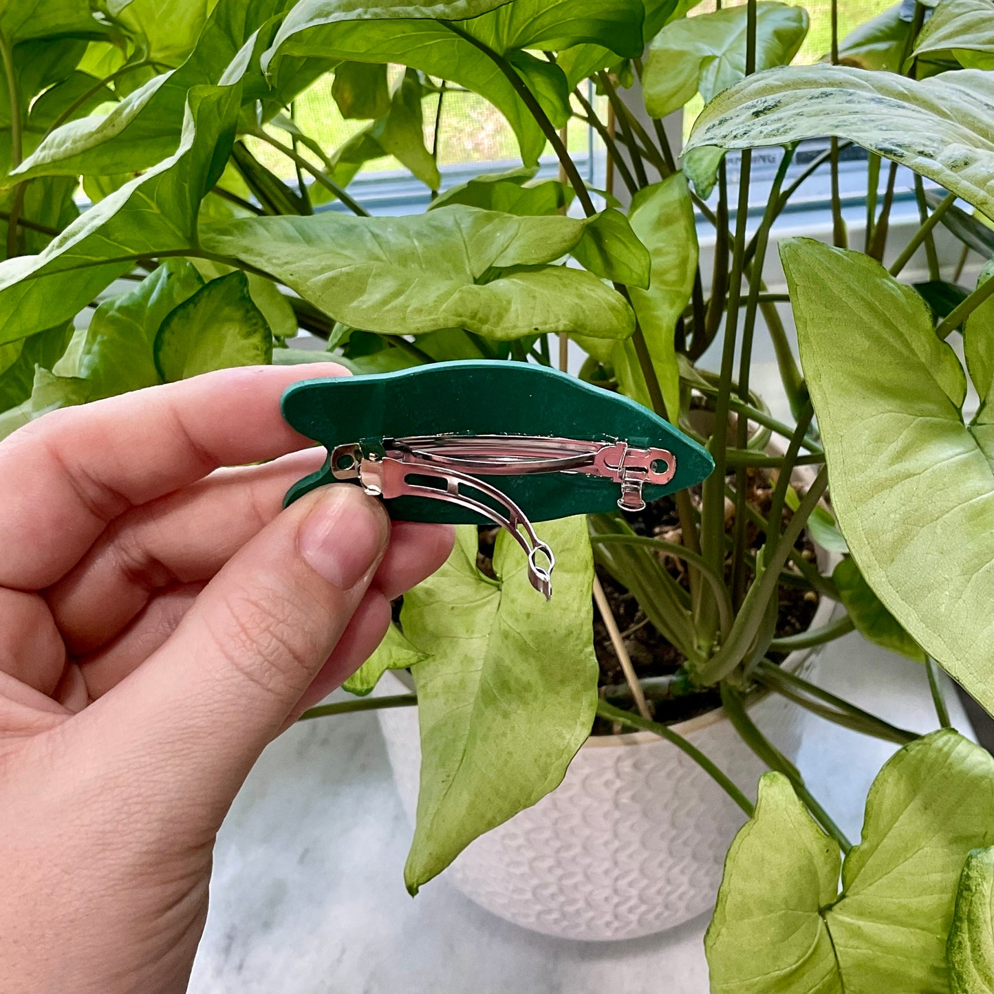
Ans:
[[[642,487],[669,483],[676,457],[665,448],[634,448],[626,441],[583,441],[541,435],[419,435],[385,438],[383,448],[359,442],[338,445],[331,453],[337,480],[356,480],[378,497],[427,497],[474,511],[506,529],[528,556],[528,577],[548,600],[556,565],[525,513],[506,494],[471,473],[517,476],[524,473],[585,473],[614,480],[621,487],[618,507],[641,511]],[[432,485],[429,480],[439,481]],[[475,490],[504,513],[470,496]],[[524,528],[522,535],[519,528]],[[543,563],[542,560],[545,560]]]

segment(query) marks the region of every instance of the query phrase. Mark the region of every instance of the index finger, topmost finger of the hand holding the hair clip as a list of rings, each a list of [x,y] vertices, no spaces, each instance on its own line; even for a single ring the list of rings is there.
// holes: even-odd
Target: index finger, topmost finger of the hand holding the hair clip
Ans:
[[[280,395],[299,380],[343,375],[334,363],[219,370],[14,432],[0,444],[0,585],[49,586],[128,507],[220,466],[311,444],[283,420]]]

